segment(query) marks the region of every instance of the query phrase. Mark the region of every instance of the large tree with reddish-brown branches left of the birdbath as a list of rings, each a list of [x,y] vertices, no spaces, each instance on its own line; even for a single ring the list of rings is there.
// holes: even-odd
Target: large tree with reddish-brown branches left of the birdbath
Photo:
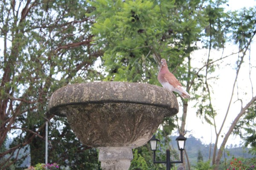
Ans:
[[[70,134],[65,119],[53,119],[47,103],[53,91],[71,81],[99,78],[92,65],[101,51],[90,43],[93,19],[85,16],[92,10],[79,0],[0,2],[0,146],[8,134],[14,135],[10,147],[0,153],[0,158],[9,155],[8,162],[0,164],[3,170],[19,164],[22,149],[30,148],[31,164],[44,162],[46,121],[51,125],[50,160],[72,164],[70,148],[76,156],[88,149]],[[70,148],[60,153],[64,145]],[[96,151],[90,154],[90,159],[97,155]]]

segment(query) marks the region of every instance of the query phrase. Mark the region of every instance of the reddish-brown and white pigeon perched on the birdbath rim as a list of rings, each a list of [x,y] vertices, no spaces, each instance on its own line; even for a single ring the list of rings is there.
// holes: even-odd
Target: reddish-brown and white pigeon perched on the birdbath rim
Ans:
[[[161,83],[163,88],[167,88],[169,91],[175,91],[184,99],[190,97],[189,93],[183,88],[176,77],[169,71],[166,59],[161,59],[161,68],[157,75],[158,81]]]

